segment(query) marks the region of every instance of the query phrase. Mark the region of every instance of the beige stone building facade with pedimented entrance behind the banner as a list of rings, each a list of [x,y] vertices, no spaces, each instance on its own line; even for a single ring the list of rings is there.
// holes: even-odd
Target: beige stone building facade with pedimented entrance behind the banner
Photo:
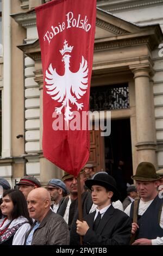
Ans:
[[[62,176],[42,154],[41,52],[29,10],[45,2],[2,1],[0,176],[12,186],[24,174],[42,185]],[[111,111],[111,134],[90,131],[89,162],[112,173],[123,160],[128,182],[142,161],[163,167],[162,11],[161,0],[97,0],[90,109],[105,121]]]

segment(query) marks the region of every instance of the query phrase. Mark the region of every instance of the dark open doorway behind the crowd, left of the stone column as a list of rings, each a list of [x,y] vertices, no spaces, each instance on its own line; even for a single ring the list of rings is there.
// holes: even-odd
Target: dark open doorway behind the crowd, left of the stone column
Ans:
[[[116,179],[115,175],[118,168],[118,162],[123,161],[123,178],[126,184],[133,184],[133,180],[131,179],[131,175],[133,175],[133,162],[130,119],[111,120],[111,134],[108,137],[104,137],[104,142],[106,172]],[[121,183],[122,182],[123,181],[121,181]],[[121,200],[123,200],[125,196],[126,194],[124,193]]]

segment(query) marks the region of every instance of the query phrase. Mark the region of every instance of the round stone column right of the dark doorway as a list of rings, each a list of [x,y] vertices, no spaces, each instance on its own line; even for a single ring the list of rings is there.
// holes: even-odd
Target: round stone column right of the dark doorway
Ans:
[[[152,162],[156,166],[155,127],[153,125],[152,87],[148,68],[133,69],[136,100],[137,160]]]

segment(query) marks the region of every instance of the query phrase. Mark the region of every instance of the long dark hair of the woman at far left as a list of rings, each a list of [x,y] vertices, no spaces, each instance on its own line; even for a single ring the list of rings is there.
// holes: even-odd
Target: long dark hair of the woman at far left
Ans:
[[[7,190],[3,193],[3,197],[7,195],[10,197],[12,203],[14,204],[14,209],[11,212],[11,220],[15,220],[15,218],[23,216],[27,218],[30,224],[32,224],[33,221],[29,217],[27,201],[23,193],[20,190]]]

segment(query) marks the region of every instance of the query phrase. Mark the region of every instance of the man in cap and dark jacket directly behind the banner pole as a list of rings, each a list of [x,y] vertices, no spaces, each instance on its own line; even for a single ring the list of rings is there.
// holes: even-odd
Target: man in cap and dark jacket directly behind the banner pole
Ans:
[[[83,216],[89,214],[92,206],[91,193],[85,191],[85,169],[80,171],[80,188],[82,194],[82,210]],[[64,217],[66,223],[70,229],[70,245],[80,245],[80,237],[76,232],[76,221],[78,217],[78,184],[77,179],[66,173],[62,176],[62,181],[64,181],[67,191],[70,193],[67,197],[60,200],[60,206],[57,211],[62,217]]]

